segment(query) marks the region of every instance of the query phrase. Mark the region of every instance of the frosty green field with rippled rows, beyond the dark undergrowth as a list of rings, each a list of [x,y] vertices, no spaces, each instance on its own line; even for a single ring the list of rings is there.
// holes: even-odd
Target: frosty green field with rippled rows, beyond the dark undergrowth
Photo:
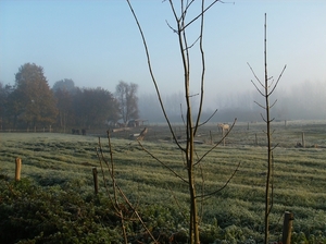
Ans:
[[[172,142],[167,127],[148,127],[143,147],[186,178],[181,152]],[[291,211],[294,215],[293,243],[326,243],[326,123],[275,122],[273,129],[276,148],[272,240],[279,241],[283,215]],[[198,188],[203,193],[223,187],[240,163],[227,186],[202,203],[203,243],[216,240],[226,240],[225,243],[262,242],[266,171],[263,130],[263,123],[237,123],[225,146],[222,143],[200,163],[202,174],[198,178],[203,181],[198,183],[203,183],[203,186]],[[130,134],[139,131],[111,133],[117,184],[138,206],[152,230],[168,232],[167,235],[187,231],[187,184],[143,151],[137,142],[129,139]],[[183,126],[174,125],[174,131],[183,139]],[[213,124],[200,127],[198,135],[196,154],[199,158],[221,139],[221,132]],[[9,185],[14,187],[14,162],[20,157],[23,183],[28,179],[28,184],[36,184],[39,190],[58,191],[57,194],[66,191],[72,195],[75,192],[80,203],[88,199],[86,203],[89,204],[95,197],[92,168],[101,171],[95,149],[99,146],[99,136],[104,155],[108,159],[110,156],[104,131],[93,131],[86,136],[57,133],[1,133],[0,136],[1,191],[5,192]],[[102,175],[99,176],[100,205],[103,205],[106,193]],[[3,198],[1,202],[5,203]],[[100,205],[96,207],[100,208]],[[103,221],[101,228],[105,225]],[[112,233],[112,227],[110,230],[114,236],[116,233]]]

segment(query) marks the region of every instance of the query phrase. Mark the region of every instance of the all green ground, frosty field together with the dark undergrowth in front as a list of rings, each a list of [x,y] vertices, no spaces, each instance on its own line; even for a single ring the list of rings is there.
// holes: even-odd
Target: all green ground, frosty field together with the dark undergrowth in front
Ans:
[[[237,125],[226,146],[217,147],[200,164],[202,191],[209,193],[222,187],[240,162],[227,187],[202,204],[202,243],[262,242],[266,166],[262,129],[260,124]],[[291,211],[293,243],[326,243],[326,125],[293,124],[285,129],[276,124],[275,129],[274,142],[279,145],[274,150],[272,240],[279,241],[283,215]],[[302,132],[305,148],[296,147]],[[198,157],[220,138],[216,129],[209,126],[200,135],[203,144],[197,145]],[[97,136],[0,136],[0,243],[121,243],[120,227],[102,178],[100,194],[93,194],[92,168],[100,171],[95,150]],[[147,225],[161,243],[187,242],[187,185],[136,142],[112,137],[117,184],[138,206]],[[181,154],[166,138],[165,129],[153,126],[143,146],[186,178]],[[101,141],[108,145],[104,137]],[[108,147],[104,152],[109,157]],[[23,161],[18,183],[13,182],[16,157]],[[143,230],[135,224],[128,225],[130,243],[147,243]]]

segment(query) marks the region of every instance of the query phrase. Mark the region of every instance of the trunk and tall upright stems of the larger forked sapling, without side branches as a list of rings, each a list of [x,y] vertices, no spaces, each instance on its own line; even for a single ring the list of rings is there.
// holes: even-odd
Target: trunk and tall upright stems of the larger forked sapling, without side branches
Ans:
[[[133,15],[136,20],[136,23],[138,25],[138,28],[140,30],[140,35],[142,37],[142,41],[145,45],[145,49],[146,49],[146,53],[147,53],[147,59],[148,59],[148,65],[149,65],[149,71],[152,77],[152,81],[154,83],[155,86],[155,90],[159,97],[159,101],[163,111],[163,114],[166,119],[166,122],[168,124],[170,131],[173,135],[173,139],[177,143],[177,136],[176,133],[173,131],[173,127],[171,125],[171,122],[167,118],[167,114],[165,112],[165,108],[164,105],[162,102],[161,99],[161,95],[160,95],[160,90],[159,87],[156,85],[153,72],[152,72],[152,68],[151,68],[151,62],[150,62],[150,57],[149,57],[149,51],[148,51],[148,47],[146,44],[146,39],[143,36],[143,33],[141,30],[141,26],[137,20],[137,16],[133,10],[133,7],[129,3],[129,0],[127,0],[130,10],[133,12]],[[186,3],[185,3],[186,2]],[[197,192],[196,192],[196,159],[195,159],[195,135],[196,132],[199,127],[199,123],[200,123],[200,114],[201,114],[201,110],[202,110],[202,101],[203,101],[203,85],[204,85],[204,54],[203,54],[203,48],[202,48],[202,36],[203,36],[203,14],[205,13],[206,10],[209,10],[212,5],[214,5],[216,2],[218,2],[218,0],[213,1],[211,4],[209,4],[206,8],[204,8],[204,1],[202,1],[202,8],[200,13],[191,19],[190,21],[186,22],[186,15],[187,12],[189,11],[190,5],[193,3],[193,1],[180,1],[180,9],[181,9],[181,14],[178,15],[177,11],[174,8],[174,1],[170,0],[170,4],[171,4],[171,9],[172,12],[175,16],[175,21],[176,21],[176,25],[177,27],[174,28],[172,26],[168,26],[177,34],[178,36],[178,42],[179,42],[179,51],[181,54],[181,60],[183,60],[183,69],[184,69],[184,85],[185,85],[185,96],[186,96],[186,106],[187,106],[187,114],[186,114],[186,147],[180,146],[178,143],[177,145],[179,146],[179,149],[185,154],[186,157],[186,163],[187,163],[187,173],[188,173],[188,181],[186,179],[183,179],[184,181],[186,181],[188,183],[188,187],[189,187],[189,200],[190,200],[190,209],[189,209],[189,213],[190,213],[190,224],[189,224],[189,243],[193,244],[199,244],[200,240],[199,240],[199,216],[198,216],[198,206],[197,206]],[[202,57],[202,75],[201,75],[201,100],[200,100],[200,106],[199,106],[199,110],[198,110],[198,115],[197,115],[197,122],[192,121],[192,107],[191,107],[191,94],[190,94],[190,53],[189,53],[189,49],[192,48],[192,45],[188,45],[187,44],[187,35],[186,35],[186,29],[187,27],[189,27],[193,22],[196,22],[198,19],[201,17],[201,30],[200,30],[200,35],[199,35],[199,40],[200,40],[200,52],[201,52],[201,57]],[[215,113],[215,112],[214,112]]]

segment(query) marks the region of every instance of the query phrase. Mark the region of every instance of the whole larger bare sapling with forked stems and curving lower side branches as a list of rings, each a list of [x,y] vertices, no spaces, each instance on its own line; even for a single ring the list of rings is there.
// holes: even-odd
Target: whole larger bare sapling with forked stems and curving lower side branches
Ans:
[[[213,149],[215,149],[217,147],[218,144],[221,144],[223,142],[223,139],[229,134],[229,132],[231,131],[236,120],[234,121],[229,131],[227,131],[227,133],[223,136],[223,138],[217,142],[216,144],[212,145],[212,147],[202,156],[198,157],[198,155],[196,154],[196,142],[195,142],[195,137],[197,135],[198,129],[200,126],[202,126],[203,124],[205,124],[215,113],[217,110],[214,111],[214,113],[204,122],[201,122],[201,112],[202,112],[202,108],[203,108],[203,97],[204,97],[204,76],[205,76],[205,59],[204,59],[204,49],[203,49],[203,27],[204,27],[204,14],[205,12],[211,9],[216,2],[220,2],[218,0],[213,1],[212,3],[210,3],[209,5],[204,4],[204,1],[202,0],[200,3],[200,9],[198,11],[198,14],[195,15],[195,17],[190,17],[188,20],[188,13],[190,12],[190,9],[192,7],[195,7],[196,4],[199,3],[199,1],[195,1],[195,0],[181,0],[179,1],[177,4],[179,4],[180,11],[177,11],[177,8],[175,7],[174,2],[172,0],[168,1],[172,13],[174,15],[174,21],[175,21],[175,27],[173,27],[171,24],[167,23],[168,27],[176,34],[177,36],[177,40],[178,40],[178,46],[179,46],[179,53],[181,56],[181,62],[183,62],[183,73],[184,73],[184,87],[185,87],[185,99],[186,99],[186,117],[184,119],[184,123],[185,123],[185,134],[186,134],[186,143],[185,144],[180,144],[177,141],[177,135],[175,133],[175,131],[172,127],[171,121],[166,114],[162,98],[161,98],[161,94],[160,94],[160,89],[156,83],[156,80],[154,77],[153,71],[152,71],[152,65],[151,65],[151,60],[150,60],[150,52],[148,49],[148,45],[145,38],[145,34],[142,32],[141,25],[138,22],[137,15],[133,9],[133,5],[130,4],[129,0],[127,0],[128,5],[130,8],[130,11],[134,15],[134,19],[137,23],[138,29],[140,32],[141,38],[142,38],[142,42],[143,42],[143,47],[146,50],[146,54],[147,54],[147,60],[148,60],[148,68],[149,68],[149,72],[152,78],[152,82],[154,84],[155,90],[156,90],[156,95],[158,95],[158,99],[159,102],[161,105],[161,109],[162,112],[165,117],[165,120],[167,122],[167,125],[170,127],[171,134],[173,136],[174,142],[176,143],[176,145],[178,146],[178,148],[180,149],[180,151],[184,155],[184,159],[185,159],[185,164],[186,164],[186,169],[187,169],[187,174],[186,175],[181,175],[178,172],[176,172],[174,169],[170,168],[167,163],[164,162],[164,160],[161,160],[159,158],[156,158],[154,155],[152,155],[149,150],[147,150],[145,148],[145,146],[141,144],[140,141],[138,141],[138,144],[142,147],[142,149],[145,151],[147,151],[151,157],[153,157],[154,159],[156,159],[160,163],[162,163],[163,167],[165,167],[172,174],[174,174],[175,176],[177,176],[178,179],[180,179],[184,183],[186,183],[187,187],[189,188],[189,243],[200,243],[200,237],[199,237],[199,222],[200,222],[200,218],[199,218],[199,207],[198,207],[198,202],[199,199],[202,200],[205,197],[210,197],[213,194],[216,194],[216,192],[221,191],[216,190],[216,191],[212,191],[211,193],[201,193],[198,194],[197,188],[200,188],[201,185],[199,184],[197,178],[201,179],[200,175],[200,163],[203,161],[204,157],[210,154]],[[179,14],[178,14],[179,13]],[[188,40],[188,36],[187,36],[187,29],[192,26],[192,24],[195,22],[200,22],[200,29],[199,29],[199,35],[198,38],[192,41],[189,42]],[[198,109],[196,111],[193,111],[192,108],[192,100],[191,98],[193,95],[190,91],[190,81],[192,81],[190,78],[190,68],[191,68],[191,62],[190,62],[190,50],[192,48],[195,48],[196,46],[199,47],[199,52],[200,52],[200,62],[201,62],[201,77],[200,77],[200,93],[199,93],[199,101],[198,101]],[[184,114],[181,114],[184,118]],[[239,164],[238,164],[239,167]],[[237,171],[238,167],[236,168],[235,172]],[[229,176],[229,180],[235,175],[235,172]],[[222,187],[224,188],[229,180],[226,182],[226,184]]]

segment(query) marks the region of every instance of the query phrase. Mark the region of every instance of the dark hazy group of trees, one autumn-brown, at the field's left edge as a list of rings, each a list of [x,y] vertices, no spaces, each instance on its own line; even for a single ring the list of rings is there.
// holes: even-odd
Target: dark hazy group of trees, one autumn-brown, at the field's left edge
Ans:
[[[68,78],[52,88],[43,69],[25,63],[15,74],[15,84],[0,83],[1,130],[26,127],[103,127],[117,121],[138,119],[137,84],[118,82],[113,94],[101,87],[80,88]]]

